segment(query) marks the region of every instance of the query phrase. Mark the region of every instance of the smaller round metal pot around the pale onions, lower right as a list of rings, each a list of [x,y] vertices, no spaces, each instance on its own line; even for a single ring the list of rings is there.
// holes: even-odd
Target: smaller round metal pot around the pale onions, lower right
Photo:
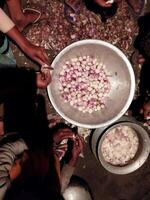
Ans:
[[[128,164],[124,166],[114,166],[105,161],[101,152],[101,147],[105,139],[105,136],[108,134],[108,132],[120,125],[129,126],[135,130],[139,138],[139,147],[135,157],[131,161],[129,161]],[[100,138],[97,147],[97,158],[101,162],[102,166],[106,170],[114,174],[128,174],[137,170],[147,160],[149,153],[150,153],[150,138],[148,136],[148,133],[140,124],[134,122],[119,122],[115,125],[112,125],[110,128],[106,129],[106,131],[102,133],[102,136]]]

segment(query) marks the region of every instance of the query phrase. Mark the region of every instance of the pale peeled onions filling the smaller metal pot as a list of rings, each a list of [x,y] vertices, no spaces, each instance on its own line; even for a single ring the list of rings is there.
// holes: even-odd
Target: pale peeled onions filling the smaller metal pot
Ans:
[[[139,138],[134,129],[129,126],[118,126],[110,130],[101,146],[103,158],[115,166],[128,164],[136,155]]]

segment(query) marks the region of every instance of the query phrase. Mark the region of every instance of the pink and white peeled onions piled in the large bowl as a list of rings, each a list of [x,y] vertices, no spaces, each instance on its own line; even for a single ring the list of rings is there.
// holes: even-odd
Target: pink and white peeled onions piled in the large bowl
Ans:
[[[105,66],[96,58],[81,56],[65,62],[59,73],[59,91],[65,102],[83,113],[105,107],[110,82]]]

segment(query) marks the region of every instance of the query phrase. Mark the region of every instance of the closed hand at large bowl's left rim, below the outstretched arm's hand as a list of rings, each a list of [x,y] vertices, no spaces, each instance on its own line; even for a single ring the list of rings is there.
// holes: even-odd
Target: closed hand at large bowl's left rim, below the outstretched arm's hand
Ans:
[[[50,82],[51,75],[49,70],[47,70],[46,72],[37,72],[36,85],[38,88],[44,89],[50,84]]]

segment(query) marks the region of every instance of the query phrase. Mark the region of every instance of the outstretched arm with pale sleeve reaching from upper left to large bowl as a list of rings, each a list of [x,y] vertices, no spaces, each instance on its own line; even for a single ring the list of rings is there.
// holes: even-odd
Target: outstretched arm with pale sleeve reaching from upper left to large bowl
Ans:
[[[43,65],[44,63],[48,64],[48,56],[45,50],[41,47],[31,44],[1,8],[0,31],[7,34],[31,59],[40,65]]]

